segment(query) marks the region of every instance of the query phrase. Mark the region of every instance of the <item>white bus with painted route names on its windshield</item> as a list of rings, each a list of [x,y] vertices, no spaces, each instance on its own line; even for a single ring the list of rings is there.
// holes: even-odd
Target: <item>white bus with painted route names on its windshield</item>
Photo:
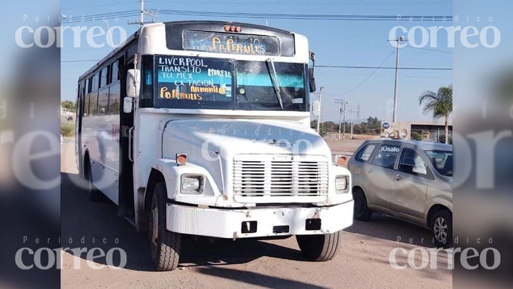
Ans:
[[[78,80],[90,199],[148,234],[157,270],[176,268],[187,235],[295,235],[309,259],[332,259],[353,200],[349,171],[310,129],[313,61],[303,35],[280,29],[142,26]]]

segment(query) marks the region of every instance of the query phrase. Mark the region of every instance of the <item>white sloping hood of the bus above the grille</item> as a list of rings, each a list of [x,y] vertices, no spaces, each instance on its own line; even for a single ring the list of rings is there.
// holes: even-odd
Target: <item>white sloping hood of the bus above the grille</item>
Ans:
[[[279,120],[180,119],[167,121],[162,130],[162,157],[187,153],[199,166],[238,154],[319,155],[331,159],[320,135],[299,123]]]

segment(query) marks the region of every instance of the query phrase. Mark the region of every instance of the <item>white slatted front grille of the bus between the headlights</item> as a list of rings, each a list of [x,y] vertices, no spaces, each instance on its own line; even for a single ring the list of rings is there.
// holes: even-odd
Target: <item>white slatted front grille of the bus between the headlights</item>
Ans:
[[[235,196],[327,196],[328,162],[235,160]]]

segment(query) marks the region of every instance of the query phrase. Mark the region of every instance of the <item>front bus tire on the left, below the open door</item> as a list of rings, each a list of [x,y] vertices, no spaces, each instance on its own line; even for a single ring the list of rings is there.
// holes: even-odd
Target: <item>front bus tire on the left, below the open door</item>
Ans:
[[[182,247],[182,235],[166,228],[166,200],[166,185],[159,183],[153,191],[148,230],[151,258],[157,271],[176,269]]]

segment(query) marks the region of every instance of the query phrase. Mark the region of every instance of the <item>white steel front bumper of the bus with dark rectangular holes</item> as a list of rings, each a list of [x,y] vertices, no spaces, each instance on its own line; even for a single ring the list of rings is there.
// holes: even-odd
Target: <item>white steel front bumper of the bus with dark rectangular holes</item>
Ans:
[[[239,239],[334,233],[352,225],[353,201],[328,207],[251,209],[167,205],[169,231]]]

